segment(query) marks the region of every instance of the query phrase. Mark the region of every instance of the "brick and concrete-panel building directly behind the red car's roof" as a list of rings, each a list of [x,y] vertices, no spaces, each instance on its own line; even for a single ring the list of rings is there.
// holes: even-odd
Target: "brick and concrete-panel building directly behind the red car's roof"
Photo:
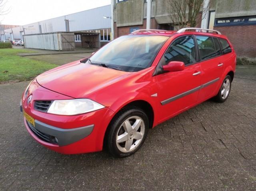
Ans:
[[[166,0],[112,0],[114,36],[146,29],[147,11],[151,29],[173,30]],[[238,57],[256,58],[256,1],[205,0],[209,10],[202,19],[198,15],[197,27],[220,31],[230,39]],[[151,4],[149,6],[149,4]],[[148,9],[150,7],[150,9]]]

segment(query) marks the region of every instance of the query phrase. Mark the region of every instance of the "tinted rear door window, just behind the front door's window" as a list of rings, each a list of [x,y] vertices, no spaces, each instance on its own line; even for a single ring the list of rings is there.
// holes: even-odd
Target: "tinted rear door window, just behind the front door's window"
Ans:
[[[198,49],[202,60],[215,57],[215,47],[212,37],[208,36],[196,36],[198,43]]]

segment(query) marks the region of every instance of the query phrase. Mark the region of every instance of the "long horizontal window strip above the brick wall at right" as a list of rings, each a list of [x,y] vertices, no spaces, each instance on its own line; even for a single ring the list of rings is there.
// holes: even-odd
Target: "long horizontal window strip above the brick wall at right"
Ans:
[[[214,26],[256,25],[256,16],[215,19]]]

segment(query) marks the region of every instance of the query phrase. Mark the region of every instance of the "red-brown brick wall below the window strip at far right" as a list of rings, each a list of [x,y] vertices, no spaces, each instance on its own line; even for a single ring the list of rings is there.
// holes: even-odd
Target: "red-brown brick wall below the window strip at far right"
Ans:
[[[214,27],[226,35],[238,57],[256,57],[256,25]]]

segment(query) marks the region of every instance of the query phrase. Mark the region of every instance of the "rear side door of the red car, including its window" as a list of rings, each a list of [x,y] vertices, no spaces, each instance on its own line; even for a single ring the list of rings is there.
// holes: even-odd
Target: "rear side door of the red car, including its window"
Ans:
[[[196,35],[196,41],[202,69],[198,100],[202,102],[216,93],[224,64],[222,63],[222,54],[217,38]]]

